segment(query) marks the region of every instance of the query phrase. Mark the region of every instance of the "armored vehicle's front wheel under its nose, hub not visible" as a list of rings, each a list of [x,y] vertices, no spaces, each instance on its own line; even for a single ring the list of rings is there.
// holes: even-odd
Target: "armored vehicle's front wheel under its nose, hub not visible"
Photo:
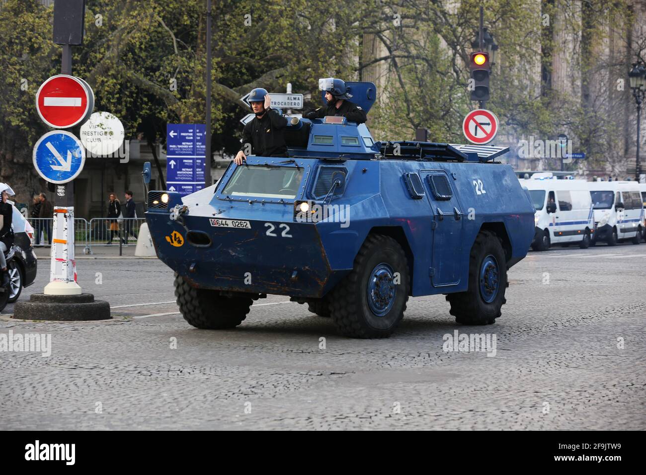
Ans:
[[[253,303],[250,297],[222,297],[216,290],[193,288],[180,275],[175,275],[174,284],[180,312],[196,328],[234,328],[247,317]]]

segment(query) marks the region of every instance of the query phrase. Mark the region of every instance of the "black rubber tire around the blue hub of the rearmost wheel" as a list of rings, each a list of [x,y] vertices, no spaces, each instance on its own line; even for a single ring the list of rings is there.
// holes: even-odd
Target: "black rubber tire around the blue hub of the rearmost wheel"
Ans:
[[[480,268],[483,260],[492,255],[498,264],[498,292],[495,299],[487,303],[480,293]],[[487,325],[501,316],[506,303],[507,264],[505,251],[499,238],[491,231],[480,231],[475,238],[469,257],[469,287],[465,292],[450,293],[446,300],[451,304],[450,313],[455,321],[465,325]]]

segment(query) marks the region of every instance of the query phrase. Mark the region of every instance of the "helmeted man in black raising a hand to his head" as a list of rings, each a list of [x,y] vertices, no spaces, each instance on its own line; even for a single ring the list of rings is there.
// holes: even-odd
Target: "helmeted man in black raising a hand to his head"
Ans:
[[[287,156],[285,129],[287,118],[271,109],[271,98],[266,89],[257,87],[249,92],[247,99],[251,104],[255,118],[244,126],[242,131],[242,147],[233,159],[237,165],[242,165],[247,155],[256,156]],[[251,145],[251,149],[249,146]]]

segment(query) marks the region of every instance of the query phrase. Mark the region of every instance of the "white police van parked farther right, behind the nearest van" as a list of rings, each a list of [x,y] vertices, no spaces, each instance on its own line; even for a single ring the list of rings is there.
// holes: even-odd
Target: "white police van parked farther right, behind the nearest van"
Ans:
[[[643,231],[643,202],[638,182],[590,182],[594,207],[592,244],[615,246],[623,239],[640,244]]]

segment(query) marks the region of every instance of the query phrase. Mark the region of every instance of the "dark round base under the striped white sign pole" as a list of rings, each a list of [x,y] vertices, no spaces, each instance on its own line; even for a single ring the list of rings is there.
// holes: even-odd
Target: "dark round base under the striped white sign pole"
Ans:
[[[21,320],[107,320],[110,304],[94,300],[91,293],[81,295],[45,295],[32,293],[28,302],[16,302],[14,318]]]

